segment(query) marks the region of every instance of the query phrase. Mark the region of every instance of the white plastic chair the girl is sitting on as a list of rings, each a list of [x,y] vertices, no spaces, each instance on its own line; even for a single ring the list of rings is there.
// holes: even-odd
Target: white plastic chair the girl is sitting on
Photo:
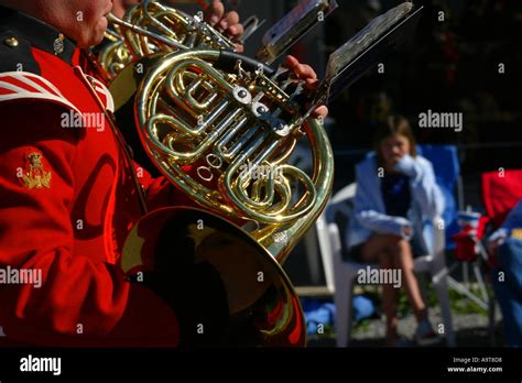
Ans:
[[[357,283],[358,271],[366,270],[368,266],[368,264],[345,262],[342,260],[342,239],[335,219],[339,214],[344,219],[346,218],[349,220],[351,218],[352,199],[356,195],[356,184],[351,184],[339,190],[331,198],[327,208],[316,221],[326,284],[328,289],[334,294],[336,306],[337,347],[348,346],[351,333],[351,300],[354,296],[354,286]],[[414,270],[416,273],[426,272],[431,275],[431,281],[441,305],[446,343],[449,347],[454,347],[455,335],[453,330],[447,287],[448,270],[446,267],[444,253],[444,228],[439,227],[438,222],[438,219],[434,222],[434,254],[415,258]],[[378,266],[370,265],[370,267],[377,269]]]

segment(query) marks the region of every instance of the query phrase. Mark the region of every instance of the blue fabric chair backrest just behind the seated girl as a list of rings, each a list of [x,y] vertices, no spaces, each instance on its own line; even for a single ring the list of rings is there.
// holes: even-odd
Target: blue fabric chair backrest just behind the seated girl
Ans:
[[[460,176],[457,146],[455,145],[418,145],[418,153],[433,165],[436,183],[444,195],[446,249],[455,247],[453,236],[460,231],[458,225],[458,204],[456,196],[457,182]]]

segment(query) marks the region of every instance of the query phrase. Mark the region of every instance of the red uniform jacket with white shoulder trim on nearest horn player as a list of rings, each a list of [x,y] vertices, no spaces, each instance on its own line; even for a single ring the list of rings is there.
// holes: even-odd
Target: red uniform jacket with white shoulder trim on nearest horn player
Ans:
[[[0,344],[175,346],[175,314],[119,267],[141,211],[95,95],[111,98],[83,62],[50,25],[0,10],[0,271],[42,272],[40,287],[0,284]],[[146,184],[151,206],[170,200],[164,179]]]

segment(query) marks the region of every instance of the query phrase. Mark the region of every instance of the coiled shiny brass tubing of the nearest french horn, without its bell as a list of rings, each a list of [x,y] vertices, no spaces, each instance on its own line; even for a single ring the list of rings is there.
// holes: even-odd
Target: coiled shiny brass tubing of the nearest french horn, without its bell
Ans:
[[[231,52],[178,52],[159,58],[135,98],[142,143],[162,173],[199,206],[250,222],[280,263],[318,218],[334,179],[327,134],[301,121],[292,95],[302,88],[278,85],[284,75]],[[287,161],[305,136],[312,174]]]

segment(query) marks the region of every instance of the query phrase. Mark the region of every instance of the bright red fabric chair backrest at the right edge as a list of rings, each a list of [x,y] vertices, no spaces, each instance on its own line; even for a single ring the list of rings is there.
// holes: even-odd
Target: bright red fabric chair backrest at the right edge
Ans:
[[[499,169],[482,174],[482,200],[494,228],[522,199],[522,169]]]

